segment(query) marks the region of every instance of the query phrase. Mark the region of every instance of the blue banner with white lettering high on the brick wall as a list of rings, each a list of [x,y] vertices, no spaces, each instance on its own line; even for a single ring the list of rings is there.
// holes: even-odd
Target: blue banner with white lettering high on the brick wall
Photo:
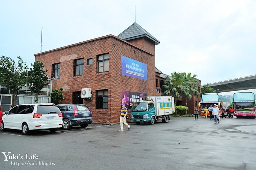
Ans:
[[[122,56],[122,75],[148,80],[147,67],[145,63]]]

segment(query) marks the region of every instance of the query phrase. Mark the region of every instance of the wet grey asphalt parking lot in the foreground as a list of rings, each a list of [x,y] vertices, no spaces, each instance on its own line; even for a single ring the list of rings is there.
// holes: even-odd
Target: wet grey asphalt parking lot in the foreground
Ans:
[[[95,123],[29,135],[8,129],[0,132],[0,166],[4,170],[254,169],[256,120],[213,122],[174,117],[154,125],[130,123],[131,131],[123,132],[118,131],[119,124]]]

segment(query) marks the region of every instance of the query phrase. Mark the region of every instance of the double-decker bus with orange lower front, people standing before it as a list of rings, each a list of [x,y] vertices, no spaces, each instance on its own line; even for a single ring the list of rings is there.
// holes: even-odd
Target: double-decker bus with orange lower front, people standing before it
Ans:
[[[204,116],[203,111],[205,107],[209,108],[210,105],[213,107],[214,104],[218,105],[219,109],[221,106],[227,109],[227,107],[230,106],[230,98],[227,96],[219,95],[218,93],[204,93],[201,97],[201,101],[198,104],[198,107],[201,109],[201,115]],[[209,111],[207,116],[210,116]]]

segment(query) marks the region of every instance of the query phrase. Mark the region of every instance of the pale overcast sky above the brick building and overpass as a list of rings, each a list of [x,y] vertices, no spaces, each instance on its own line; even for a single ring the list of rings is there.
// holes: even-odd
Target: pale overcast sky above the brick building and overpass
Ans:
[[[0,16],[0,55],[29,66],[41,27],[43,52],[117,36],[136,18],[160,41],[164,74],[191,72],[202,85],[256,74],[255,0],[0,0]]]

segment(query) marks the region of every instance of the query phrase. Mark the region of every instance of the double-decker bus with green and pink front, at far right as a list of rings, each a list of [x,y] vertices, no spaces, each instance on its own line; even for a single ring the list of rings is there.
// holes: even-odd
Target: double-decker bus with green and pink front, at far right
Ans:
[[[231,102],[234,108],[234,116],[255,118],[255,95],[251,92],[234,93]]]

